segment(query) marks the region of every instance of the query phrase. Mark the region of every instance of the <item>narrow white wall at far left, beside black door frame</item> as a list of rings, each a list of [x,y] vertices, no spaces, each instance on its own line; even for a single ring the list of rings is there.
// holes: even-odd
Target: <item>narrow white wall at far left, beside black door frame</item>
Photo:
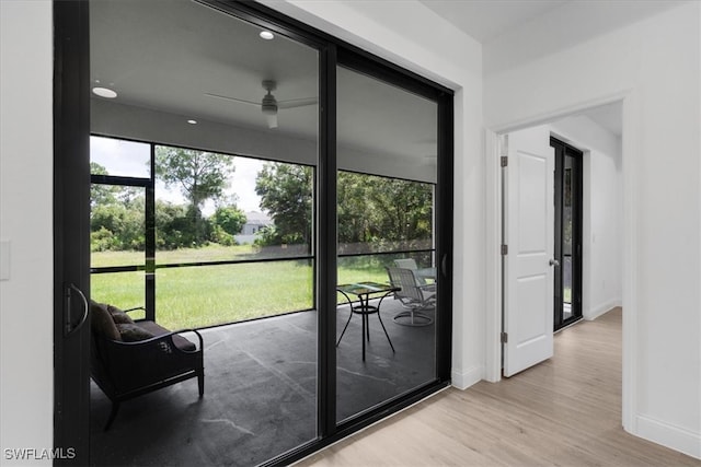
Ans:
[[[0,2],[0,451],[54,445],[53,30],[48,1]]]

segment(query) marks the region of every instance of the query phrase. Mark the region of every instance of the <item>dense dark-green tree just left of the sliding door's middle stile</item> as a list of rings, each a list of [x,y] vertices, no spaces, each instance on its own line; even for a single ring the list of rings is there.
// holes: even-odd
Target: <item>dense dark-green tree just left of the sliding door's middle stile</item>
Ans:
[[[302,244],[311,242],[312,168],[279,162],[263,165],[255,178],[261,208],[271,213],[275,229],[265,244]]]

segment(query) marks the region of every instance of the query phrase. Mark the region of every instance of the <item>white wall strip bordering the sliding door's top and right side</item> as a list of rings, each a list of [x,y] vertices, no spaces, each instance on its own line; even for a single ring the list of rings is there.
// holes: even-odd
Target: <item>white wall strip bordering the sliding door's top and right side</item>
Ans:
[[[414,0],[261,2],[456,91],[452,384],[476,383],[485,307],[481,45]]]

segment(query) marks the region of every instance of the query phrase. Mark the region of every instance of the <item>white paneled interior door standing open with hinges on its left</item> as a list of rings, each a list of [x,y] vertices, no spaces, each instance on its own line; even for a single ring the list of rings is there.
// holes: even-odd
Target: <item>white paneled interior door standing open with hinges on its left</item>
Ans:
[[[548,127],[508,135],[504,376],[553,354],[554,160]]]

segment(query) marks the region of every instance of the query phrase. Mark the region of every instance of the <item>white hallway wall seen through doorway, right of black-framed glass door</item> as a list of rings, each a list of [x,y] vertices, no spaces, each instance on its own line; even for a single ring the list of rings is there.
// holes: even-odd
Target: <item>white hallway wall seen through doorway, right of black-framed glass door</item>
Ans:
[[[622,301],[621,139],[586,116],[559,119],[550,129],[584,152],[582,314],[594,319]]]

